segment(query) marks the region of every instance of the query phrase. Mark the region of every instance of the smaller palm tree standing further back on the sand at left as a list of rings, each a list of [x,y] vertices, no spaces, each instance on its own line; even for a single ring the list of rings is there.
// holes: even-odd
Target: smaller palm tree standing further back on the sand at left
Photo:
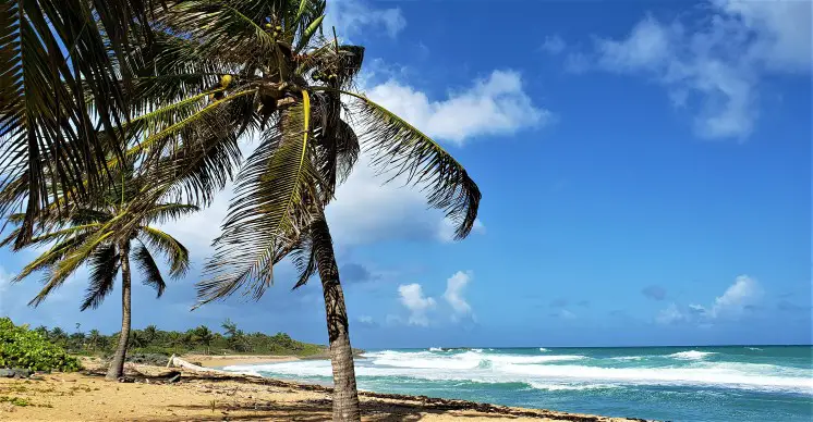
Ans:
[[[133,211],[131,203],[144,193],[144,185],[132,177],[122,176],[108,195],[88,203],[73,204],[66,214],[53,212],[35,221],[34,236],[25,246],[51,245],[37,259],[28,263],[12,281],[20,282],[34,272],[45,273],[45,287],[28,305],[38,306],[83,264],[90,269],[89,286],[81,310],[97,308],[112,291],[121,270],[122,319],[118,347],[108,380],[123,375],[124,359],[131,339],[131,258],[141,270],[143,283],[155,288],[160,298],[166,288],[163,276],[155,261],[160,252],[169,262],[169,275],[182,277],[190,265],[189,251],[174,237],[151,226],[197,211],[197,207],[156,202]],[[23,222],[24,215],[12,215],[12,221]],[[13,231],[0,246],[14,241],[22,226]],[[153,251],[150,251],[150,249]]]

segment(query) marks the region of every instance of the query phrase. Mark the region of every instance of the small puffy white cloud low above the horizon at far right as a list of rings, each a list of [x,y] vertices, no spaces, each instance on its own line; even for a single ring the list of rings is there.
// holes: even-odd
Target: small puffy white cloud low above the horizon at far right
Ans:
[[[678,322],[708,323],[712,320],[736,320],[745,311],[755,309],[763,289],[755,278],[738,276],[723,296],[718,296],[709,307],[691,303],[684,308],[670,303],[655,320],[662,324]]]

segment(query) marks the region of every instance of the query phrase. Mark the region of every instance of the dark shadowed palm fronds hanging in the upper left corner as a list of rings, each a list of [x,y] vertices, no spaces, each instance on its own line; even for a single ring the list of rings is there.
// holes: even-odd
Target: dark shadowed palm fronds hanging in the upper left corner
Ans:
[[[119,78],[132,74],[124,58],[129,29],[149,30],[145,7],[138,0],[0,4],[0,174],[27,182],[20,244],[49,203],[102,188],[107,156],[121,154],[99,136],[92,116],[110,138],[126,119]],[[62,191],[49,190],[48,181],[59,181]],[[20,206],[19,197],[2,199],[0,215]]]

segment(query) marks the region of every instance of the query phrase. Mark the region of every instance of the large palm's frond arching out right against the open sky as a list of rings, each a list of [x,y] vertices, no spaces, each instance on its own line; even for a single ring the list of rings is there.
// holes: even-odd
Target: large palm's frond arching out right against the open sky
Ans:
[[[423,186],[432,207],[442,209],[456,224],[454,238],[471,233],[477,219],[481,193],[469,173],[432,138],[395,113],[357,94],[354,114],[363,133],[362,146],[373,153],[373,164],[390,173],[391,182],[406,176],[406,184]]]

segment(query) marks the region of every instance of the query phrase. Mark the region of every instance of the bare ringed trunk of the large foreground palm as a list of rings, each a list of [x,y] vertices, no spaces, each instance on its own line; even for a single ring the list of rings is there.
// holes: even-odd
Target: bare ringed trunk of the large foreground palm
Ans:
[[[353,349],[350,347],[350,332],[348,331],[348,310],[339,282],[339,269],[336,265],[330,229],[324,216],[315,221],[312,228],[313,247],[316,248],[316,262],[325,295],[330,363],[333,368],[333,421],[361,421]]]

